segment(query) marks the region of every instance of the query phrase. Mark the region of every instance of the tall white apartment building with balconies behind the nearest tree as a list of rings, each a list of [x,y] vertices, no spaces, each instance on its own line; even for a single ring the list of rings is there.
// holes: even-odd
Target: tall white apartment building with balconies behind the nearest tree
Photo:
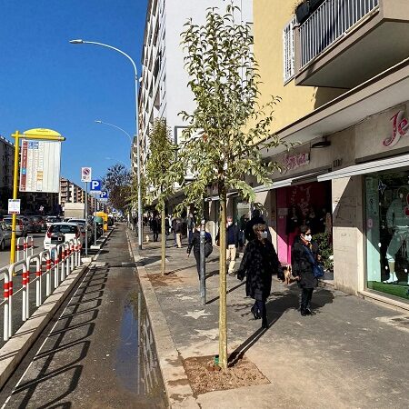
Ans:
[[[244,23],[253,22],[253,0],[235,0]],[[142,80],[139,88],[139,116],[143,165],[149,155],[149,130],[157,117],[165,117],[175,144],[181,141],[185,124],[179,113],[193,112],[195,102],[187,87],[181,33],[188,18],[205,23],[206,9],[217,6],[223,13],[224,0],[150,0],[145,21]],[[134,155],[135,158],[135,155]]]

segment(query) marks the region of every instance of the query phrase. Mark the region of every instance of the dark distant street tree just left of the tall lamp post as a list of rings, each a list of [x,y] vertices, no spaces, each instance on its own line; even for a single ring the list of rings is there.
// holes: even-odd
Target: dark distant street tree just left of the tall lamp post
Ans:
[[[110,204],[124,212],[131,186],[131,174],[129,170],[121,164],[111,166],[108,168],[102,183],[108,192]]]

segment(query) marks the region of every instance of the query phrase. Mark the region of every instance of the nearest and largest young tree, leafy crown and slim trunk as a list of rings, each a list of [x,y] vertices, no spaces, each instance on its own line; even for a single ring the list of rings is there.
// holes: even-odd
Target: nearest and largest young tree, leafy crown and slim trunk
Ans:
[[[235,21],[238,8],[230,4],[224,15],[211,8],[205,25],[188,21],[182,34],[188,83],[195,95],[193,113],[183,112],[185,143],[179,146],[174,165],[183,184],[186,169],[195,175],[184,185],[185,203],[198,203],[209,185],[220,197],[220,304],[219,363],[227,367],[226,195],[237,190],[254,201],[254,191],[245,182],[253,175],[259,183],[271,183],[279,168],[266,163],[261,150],[277,146],[280,140],[271,132],[273,108],[279,101],[272,97],[264,106],[257,104],[259,75],[253,54],[251,27]],[[268,137],[268,138],[267,138]]]

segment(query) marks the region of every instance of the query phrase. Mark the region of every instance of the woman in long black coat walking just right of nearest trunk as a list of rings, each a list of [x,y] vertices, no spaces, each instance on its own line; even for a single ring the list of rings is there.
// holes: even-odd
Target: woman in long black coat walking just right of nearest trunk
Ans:
[[[266,229],[265,224],[254,224],[255,238],[245,246],[237,273],[239,280],[246,277],[245,293],[255,300],[251,312],[254,319],[262,318],[262,328],[268,328],[265,301],[271,293],[272,275],[278,270],[278,257],[274,245],[267,240]]]

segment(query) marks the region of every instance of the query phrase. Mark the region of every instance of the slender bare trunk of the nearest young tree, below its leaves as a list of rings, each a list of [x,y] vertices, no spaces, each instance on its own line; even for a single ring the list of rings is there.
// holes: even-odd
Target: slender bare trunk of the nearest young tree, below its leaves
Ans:
[[[226,305],[226,265],[225,265],[225,224],[226,192],[219,189],[220,196],[220,262],[219,262],[219,364],[227,369],[227,305]]]

